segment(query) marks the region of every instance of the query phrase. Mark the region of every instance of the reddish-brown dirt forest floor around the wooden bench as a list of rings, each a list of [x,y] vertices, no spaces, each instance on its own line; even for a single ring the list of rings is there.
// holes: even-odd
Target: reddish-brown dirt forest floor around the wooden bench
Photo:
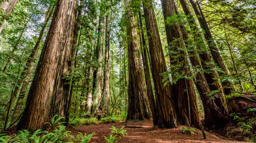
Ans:
[[[73,131],[73,134],[77,132],[81,133],[93,133],[96,132],[97,135],[94,135],[92,138],[93,143],[105,143],[106,140],[104,136],[109,136],[111,134],[111,126],[115,126],[120,129],[124,127],[124,122],[111,123],[111,124],[98,124],[94,126],[79,126]],[[118,140],[118,143],[233,143],[235,141],[228,141],[217,137],[211,133],[206,132],[207,140],[203,139],[203,135],[200,130],[199,135],[188,135],[181,133],[181,126],[178,126],[175,129],[154,129],[152,120],[143,121],[142,128],[140,125],[128,125],[131,127],[124,127],[127,134],[124,139]],[[137,126],[137,127],[136,127]],[[238,143],[238,142],[236,142]]]

